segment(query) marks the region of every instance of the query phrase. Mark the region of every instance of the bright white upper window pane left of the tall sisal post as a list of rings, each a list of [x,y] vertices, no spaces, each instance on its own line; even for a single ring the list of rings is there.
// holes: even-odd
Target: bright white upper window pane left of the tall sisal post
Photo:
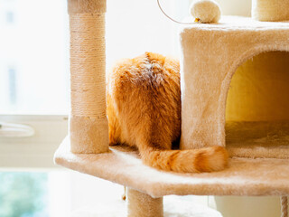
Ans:
[[[0,4],[0,112],[67,114],[65,2],[0,0]]]

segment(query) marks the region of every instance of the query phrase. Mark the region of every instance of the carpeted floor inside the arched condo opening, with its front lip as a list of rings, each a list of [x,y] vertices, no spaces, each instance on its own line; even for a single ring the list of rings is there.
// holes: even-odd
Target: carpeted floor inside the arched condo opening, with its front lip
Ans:
[[[226,147],[230,156],[288,159],[289,121],[228,121]]]

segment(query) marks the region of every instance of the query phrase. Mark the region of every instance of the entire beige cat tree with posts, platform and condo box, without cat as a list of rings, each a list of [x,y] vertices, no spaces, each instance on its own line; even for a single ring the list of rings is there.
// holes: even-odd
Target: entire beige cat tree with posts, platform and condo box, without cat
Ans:
[[[289,195],[286,137],[281,139],[285,141],[282,146],[280,139],[270,140],[270,145],[258,145],[258,140],[254,140],[252,145],[248,129],[266,131],[267,122],[274,118],[259,119],[256,114],[242,117],[239,114],[250,113],[250,109],[246,105],[239,110],[232,106],[241,94],[237,90],[228,94],[232,76],[242,63],[261,52],[289,52],[289,23],[256,21],[289,20],[288,0],[279,0],[278,4],[274,0],[253,1],[256,20],[223,17],[219,24],[191,24],[182,28],[181,147],[227,146],[231,156],[241,156],[231,158],[224,171],[204,174],[158,171],[143,165],[133,150],[122,146],[108,148],[106,0],[69,0],[68,5],[70,135],[55,153],[56,164],[127,186],[127,215],[130,217],[163,216],[163,196],[169,194]],[[243,68],[245,72],[248,70],[246,65]],[[289,73],[288,68],[286,70]],[[289,93],[284,92],[284,97],[288,96]],[[264,109],[265,114],[269,111],[270,108]],[[228,137],[225,137],[226,112],[231,120],[226,126]],[[281,122],[279,126],[286,127],[286,124]],[[287,215],[286,203],[283,197],[284,216]]]

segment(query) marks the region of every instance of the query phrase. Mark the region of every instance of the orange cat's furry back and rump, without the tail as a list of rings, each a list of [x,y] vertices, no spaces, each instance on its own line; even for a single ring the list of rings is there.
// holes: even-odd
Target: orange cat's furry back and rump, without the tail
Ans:
[[[154,129],[161,127],[170,139],[179,137],[179,61],[152,52],[119,61],[107,78],[108,118],[112,113],[122,128],[121,137],[129,138],[129,143],[136,142],[137,134],[154,137]]]

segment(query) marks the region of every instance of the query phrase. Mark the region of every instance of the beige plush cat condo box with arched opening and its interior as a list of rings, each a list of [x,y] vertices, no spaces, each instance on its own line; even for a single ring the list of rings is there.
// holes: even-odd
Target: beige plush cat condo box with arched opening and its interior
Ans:
[[[227,116],[227,142],[232,145],[228,150],[235,156],[289,158],[289,22],[223,16],[219,24],[183,27],[181,47],[182,148],[226,146]],[[271,54],[272,61],[283,59],[283,65],[262,71],[272,63],[260,61],[258,54],[275,51],[284,53]],[[246,64],[248,60],[253,61]],[[231,82],[241,65],[238,80]],[[228,98],[230,87],[239,88]],[[284,140],[262,142],[273,125],[284,131]],[[260,146],[253,138],[259,138]]]

